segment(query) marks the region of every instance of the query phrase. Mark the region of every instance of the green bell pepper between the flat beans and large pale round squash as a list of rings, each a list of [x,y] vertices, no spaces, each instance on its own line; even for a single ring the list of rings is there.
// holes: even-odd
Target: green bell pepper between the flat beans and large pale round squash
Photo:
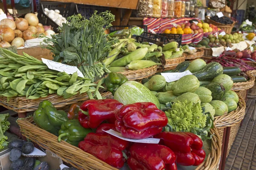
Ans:
[[[111,72],[108,74],[108,77],[105,78],[105,86],[107,90],[114,95],[117,88],[127,81],[128,79],[123,74]]]

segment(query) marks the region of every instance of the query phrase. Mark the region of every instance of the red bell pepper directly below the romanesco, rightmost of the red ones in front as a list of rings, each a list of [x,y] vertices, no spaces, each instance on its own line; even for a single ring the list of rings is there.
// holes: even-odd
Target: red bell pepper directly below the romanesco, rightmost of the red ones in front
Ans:
[[[202,140],[189,132],[161,132],[155,138],[160,143],[172,149],[177,156],[177,164],[197,166],[204,161],[205,152]]]

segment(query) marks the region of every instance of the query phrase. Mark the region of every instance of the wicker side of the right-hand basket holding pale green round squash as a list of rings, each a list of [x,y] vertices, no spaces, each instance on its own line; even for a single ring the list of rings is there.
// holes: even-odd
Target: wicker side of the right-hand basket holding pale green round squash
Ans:
[[[214,117],[214,124],[218,129],[237,125],[244,119],[246,103],[244,102],[244,99],[239,94],[237,95],[239,96],[239,102],[236,110],[230,113],[224,114],[222,116]]]

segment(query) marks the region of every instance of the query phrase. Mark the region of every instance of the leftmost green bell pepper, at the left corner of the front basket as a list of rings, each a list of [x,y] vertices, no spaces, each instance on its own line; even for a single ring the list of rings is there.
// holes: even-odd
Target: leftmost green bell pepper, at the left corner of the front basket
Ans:
[[[61,125],[68,120],[67,113],[57,111],[48,100],[44,100],[33,114],[34,122],[38,127],[58,136]]]

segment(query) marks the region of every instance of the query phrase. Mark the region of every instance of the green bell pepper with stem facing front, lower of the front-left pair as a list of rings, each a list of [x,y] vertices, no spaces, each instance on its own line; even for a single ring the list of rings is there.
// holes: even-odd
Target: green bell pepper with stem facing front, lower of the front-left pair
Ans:
[[[61,125],[61,129],[58,131],[58,142],[61,139],[78,147],[79,142],[84,140],[84,137],[92,132],[90,128],[84,128],[80,125],[78,119],[68,120]]]

